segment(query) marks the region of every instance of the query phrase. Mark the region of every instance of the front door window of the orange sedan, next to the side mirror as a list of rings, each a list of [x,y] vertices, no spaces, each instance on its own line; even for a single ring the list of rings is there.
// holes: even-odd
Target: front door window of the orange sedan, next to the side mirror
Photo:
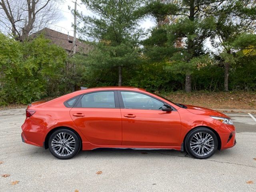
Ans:
[[[164,105],[163,102],[141,93],[121,91],[121,94],[124,108],[160,109]]]

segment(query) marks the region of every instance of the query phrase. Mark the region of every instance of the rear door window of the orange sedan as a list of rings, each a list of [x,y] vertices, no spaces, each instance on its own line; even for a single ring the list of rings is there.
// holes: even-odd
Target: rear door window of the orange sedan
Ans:
[[[81,99],[82,107],[86,108],[115,108],[113,91],[89,93]]]

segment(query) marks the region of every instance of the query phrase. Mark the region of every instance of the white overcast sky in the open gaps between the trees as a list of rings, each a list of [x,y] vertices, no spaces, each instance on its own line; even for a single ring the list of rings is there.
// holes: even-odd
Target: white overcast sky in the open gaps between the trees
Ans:
[[[74,23],[74,16],[71,14],[70,10],[68,9],[68,6],[71,7],[71,9],[74,9],[74,1],[72,0],[66,0],[63,4],[60,4],[60,14],[61,18],[58,23],[50,26],[51,29],[68,34],[70,36],[73,36],[74,31],[72,27],[72,23]],[[90,12],[84,4],[81,4],[81,0],[77,0],[77,10],[79,12],[83,12],[85,15],[93,15],[92,12]],[[155,25],[155,22],[153,19],[145,19],[144,21],[140,22],[140,26],[145,29],[149,29]],[[79,34],[78,34],[79,36]]]

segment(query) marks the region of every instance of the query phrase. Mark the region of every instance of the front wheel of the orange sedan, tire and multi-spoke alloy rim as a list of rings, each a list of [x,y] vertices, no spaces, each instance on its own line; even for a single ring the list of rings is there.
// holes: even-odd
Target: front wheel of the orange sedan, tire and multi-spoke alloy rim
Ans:
[[[201,136],[203,135],[203,137],[201,137],[201,138],[204,138],[204,137],[208,136],[208,134],[209,134],[213,140],[211,139],[210,136],[208,136],[208,138],[211,139],[209,142],[206,142],[209,139],[198,140],[198,141],[195,140],[195,138],[200,136],[200,134],[201,134]],[[200,141],[202,141],[202,142],[200,142]],[[212,130],[205,128],[205,127],[198,127],[198,128],[195,128],[194,130],[192,130],[191,132],[189,132],[188,135],[186,136],[185,149],[188,152],[188,154],[190,154],[190,156],[192,156],[194,158],[206,159],[206,158],[211,157],[218,149],[218,138],[214,134],[214,132],[212,132]],[[196,152],[198,152],[198,153],[196,153]]]

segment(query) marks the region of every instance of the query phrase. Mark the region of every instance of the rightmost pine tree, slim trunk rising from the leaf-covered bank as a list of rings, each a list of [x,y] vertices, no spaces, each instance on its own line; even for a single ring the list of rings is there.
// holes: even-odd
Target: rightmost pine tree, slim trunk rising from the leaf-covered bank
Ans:
[[[256,2],[228,0],[212,14],[216,30],[212,33],[211,41],[219,50],[220,66],[224,66],[224,90],[228,91],[230,67],[239,57],[236,53],[255,44],[253,33],[256,32]]]

